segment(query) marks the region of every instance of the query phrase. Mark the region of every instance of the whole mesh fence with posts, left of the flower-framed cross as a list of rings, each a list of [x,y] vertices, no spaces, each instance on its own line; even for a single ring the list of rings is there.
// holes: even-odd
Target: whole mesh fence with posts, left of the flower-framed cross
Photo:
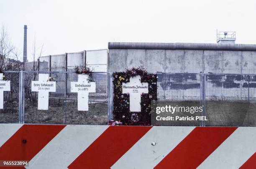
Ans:
[[[38,109],[38,92],[31,90],[32,81],[38,81],[39,74],[47,74],[56,82],[56,92],[49,92],[49,98],[43,98],[43,104],[49,102],[47,110]],[[92,73],[96,92],[88,94],[88,111],[78,110],[77,93],[71,92],[70,83],[78,80],[75,72],[20,71],[5,72],[4,75],[7,80],[10,80],[11,85],[10,91],[4,92],[4,107],[0,109],[0,123],[108,123],[108,74],[105,72]]]

